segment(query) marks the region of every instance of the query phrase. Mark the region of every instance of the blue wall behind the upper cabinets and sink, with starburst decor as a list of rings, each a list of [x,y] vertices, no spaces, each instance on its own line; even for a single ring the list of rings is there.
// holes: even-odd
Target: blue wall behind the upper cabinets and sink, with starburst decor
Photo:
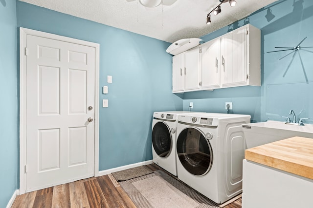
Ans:
[[[267,15],[270,10],[272,19]],[[208,41],[219,37],[245,21],[261,29],[262,86],[185,93],[183,109],[188,110],[189,102],[193,102],[193,111],[226,113],[225,102],[233,102],[232,113],[250,114],[253,122],[283,121],[281,116],[287,116],[291,109],[297,118],[313,117],[313,48],[302,48],[294,58],[293,54],[284,57],[290,52],[267,53],[274,47],[294,47],[305,37],[301,46],[313,46],[313,1],[279,0],[201,38]]]

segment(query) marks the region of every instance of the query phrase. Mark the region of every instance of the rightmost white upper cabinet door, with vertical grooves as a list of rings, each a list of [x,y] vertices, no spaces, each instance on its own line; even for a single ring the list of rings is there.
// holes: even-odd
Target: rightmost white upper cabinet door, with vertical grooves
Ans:
[[[243,86],[247,83],[246,31],[246,27],[243,27],[221,38],[222,87]]]

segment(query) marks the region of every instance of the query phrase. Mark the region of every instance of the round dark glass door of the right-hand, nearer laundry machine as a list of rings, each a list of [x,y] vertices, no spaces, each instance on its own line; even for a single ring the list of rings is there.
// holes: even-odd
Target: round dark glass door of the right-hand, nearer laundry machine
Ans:
[[[211,145],[197,128],[189,127],[179,133],[177,154],[181,165],[193,175],[204,175],[212,167]]]

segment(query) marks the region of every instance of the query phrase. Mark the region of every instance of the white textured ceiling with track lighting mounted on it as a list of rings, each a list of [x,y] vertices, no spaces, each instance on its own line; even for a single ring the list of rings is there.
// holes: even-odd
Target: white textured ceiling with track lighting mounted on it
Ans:
[[[235,7],[225,2],[222,12],[211,16],[210,25],[206,25],[206,15],[219,0],[163,0],[154,8],[144,7],[138,0],[20,1],[173,43],[182,38],[200,38],[276,0],[236,0]]]

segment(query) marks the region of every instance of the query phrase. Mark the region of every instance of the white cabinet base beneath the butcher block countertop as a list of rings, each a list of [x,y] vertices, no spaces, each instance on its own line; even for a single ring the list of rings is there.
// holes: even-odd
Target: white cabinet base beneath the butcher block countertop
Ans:
[[[313,208],[313,180],[245,159],[242,208]]]

